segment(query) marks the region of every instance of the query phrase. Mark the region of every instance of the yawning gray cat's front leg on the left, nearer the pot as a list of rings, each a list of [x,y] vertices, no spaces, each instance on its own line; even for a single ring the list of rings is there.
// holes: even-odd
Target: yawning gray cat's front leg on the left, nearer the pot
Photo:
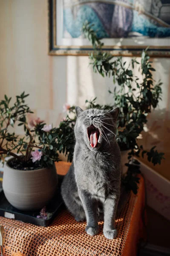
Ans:
[[[98,233],[97,203],[84,190],[78,189],[78,195],[81,199],[86,214],[86,233],[90,236],[94,236]]]

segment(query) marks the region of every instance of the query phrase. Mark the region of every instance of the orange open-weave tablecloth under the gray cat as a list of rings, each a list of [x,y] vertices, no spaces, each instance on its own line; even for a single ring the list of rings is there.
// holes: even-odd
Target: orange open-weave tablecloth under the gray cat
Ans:
[[[59,174],[65,174],[69,163],[59,162],[56,166]],[[143,233],[144,180],[140,178],[138,194],[130,195],[126,207],[116,219],[116,239],[104,237],[103,222],[99,222],[98,235],[87,235],[86,222],[76,222],[66,210],[62,210],[49,227],[0,217],[0,224],[6,230],[4,256],[135,256]]]

